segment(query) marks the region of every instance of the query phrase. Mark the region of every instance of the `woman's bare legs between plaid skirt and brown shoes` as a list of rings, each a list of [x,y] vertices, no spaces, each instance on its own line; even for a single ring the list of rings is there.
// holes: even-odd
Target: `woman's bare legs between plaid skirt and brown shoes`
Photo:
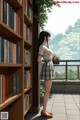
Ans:
[[[45,80],[45,94],[43,99],[43,112],[46,113],[47,100],[51,90],[52,80]]]

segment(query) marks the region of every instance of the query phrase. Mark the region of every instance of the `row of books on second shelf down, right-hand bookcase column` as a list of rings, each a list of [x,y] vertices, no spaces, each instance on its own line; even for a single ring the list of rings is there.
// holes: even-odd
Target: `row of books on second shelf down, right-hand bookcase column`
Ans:
[[[32,32],[24,23],[24,40],[32,45]]]

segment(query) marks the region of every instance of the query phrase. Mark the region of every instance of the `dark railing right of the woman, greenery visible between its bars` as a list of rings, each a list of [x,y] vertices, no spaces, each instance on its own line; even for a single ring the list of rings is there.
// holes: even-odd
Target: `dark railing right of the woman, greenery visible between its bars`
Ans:
[[[54,80],[80,81],[80,60],[60,60],[55,65]]]

